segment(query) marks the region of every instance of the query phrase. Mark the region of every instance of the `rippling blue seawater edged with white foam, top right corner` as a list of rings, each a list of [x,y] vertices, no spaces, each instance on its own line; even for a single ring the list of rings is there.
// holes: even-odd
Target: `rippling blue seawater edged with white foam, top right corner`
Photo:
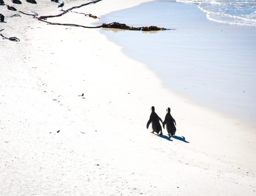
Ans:
[[[256,26],[256,0],[177,0],[195,3],[209,20]]]

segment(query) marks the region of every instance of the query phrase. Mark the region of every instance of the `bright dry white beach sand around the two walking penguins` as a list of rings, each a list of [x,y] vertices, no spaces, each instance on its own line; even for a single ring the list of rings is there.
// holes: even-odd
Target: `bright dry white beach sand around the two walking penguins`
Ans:
[[[103,0],[75,11],[100,16],[143,1]],[[59,13],[53,2],[32,6],[20,5],[39,15]],[[13,12],[1,6],[0,13]],[[6,22],[1,33],[21,41],[0,40],[0,195],[256,194],[251,127],[167,91],[98,29],[25,15]],[[146,129],[150,107],[163,119],[170,104],[176,139]]]

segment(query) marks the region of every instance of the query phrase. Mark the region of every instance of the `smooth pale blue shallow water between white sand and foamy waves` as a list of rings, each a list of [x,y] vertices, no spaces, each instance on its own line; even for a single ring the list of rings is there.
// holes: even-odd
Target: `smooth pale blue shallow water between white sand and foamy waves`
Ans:
[[[197,104],[254,123],[256,27],[212,22],[196,5],[168,0],[143,3],[101,19],[104,23],[176,28],[102,33],[157,73],[166,88]]]

